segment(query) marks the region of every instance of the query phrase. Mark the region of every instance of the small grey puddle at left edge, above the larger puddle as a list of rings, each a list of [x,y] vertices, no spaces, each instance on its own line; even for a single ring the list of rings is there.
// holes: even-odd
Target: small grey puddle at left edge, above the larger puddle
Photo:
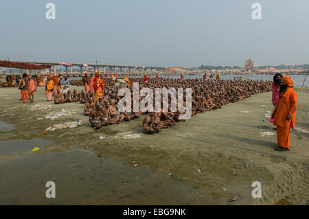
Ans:
[[[19,153],[23,150],[32,150],[35,147],[43,148],[43,146],[49,144],[51,144],[51,142],[43,139],[0,141],[0,154]]]

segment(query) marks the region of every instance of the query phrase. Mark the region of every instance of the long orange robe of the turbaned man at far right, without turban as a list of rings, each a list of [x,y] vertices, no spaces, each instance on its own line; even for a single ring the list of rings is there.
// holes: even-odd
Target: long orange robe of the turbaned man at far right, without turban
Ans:
[[[290,148],[290,128],[295,128],[295,116],[297,108],[297,93],[290,87],[286,89],[279,97],[273,114],[275,121],[273,124],[277,126],[278,146],[282,148]],[[290,114],[290,120],[286,120],[286,116]]]

